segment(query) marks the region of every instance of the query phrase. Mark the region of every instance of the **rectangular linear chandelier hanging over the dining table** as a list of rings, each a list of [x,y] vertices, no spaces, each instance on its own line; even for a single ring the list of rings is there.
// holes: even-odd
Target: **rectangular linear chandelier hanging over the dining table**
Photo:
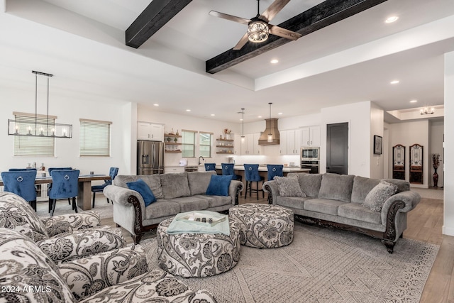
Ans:
[[[21,115],[21,119],[8,120],[8,135],[28,136],[28,137],[47,137],[47,138],[72,138],[72,124],[55,123],[55,116],[49,121],[49,78],[52,74],[36,72],[35,74],[35,119]],[[38,75],[48,77],[48,113],[46,116],[38,117]]]

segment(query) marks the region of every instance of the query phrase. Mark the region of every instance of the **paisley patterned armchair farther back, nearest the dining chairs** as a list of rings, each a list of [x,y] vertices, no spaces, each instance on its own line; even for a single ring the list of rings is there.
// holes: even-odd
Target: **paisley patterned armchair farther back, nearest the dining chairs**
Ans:
[[[18,195],[0,193],[0,227],[28,236],[57,264],[122,248],[121,228],[100,222],[96,212],[40,219]]]

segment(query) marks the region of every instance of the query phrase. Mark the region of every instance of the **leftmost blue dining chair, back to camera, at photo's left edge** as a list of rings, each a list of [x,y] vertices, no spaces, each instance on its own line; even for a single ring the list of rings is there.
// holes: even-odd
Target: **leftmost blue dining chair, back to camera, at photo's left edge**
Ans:
[[[19,170],[15,172],[1,172],[4,192],[13,192],[31,204],[36,211],[36,170]]]

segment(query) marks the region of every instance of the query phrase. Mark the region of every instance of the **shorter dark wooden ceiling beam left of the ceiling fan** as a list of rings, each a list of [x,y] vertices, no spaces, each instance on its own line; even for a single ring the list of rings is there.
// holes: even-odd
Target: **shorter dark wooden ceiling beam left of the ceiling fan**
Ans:
[[[153,0],[126,30],[126,45],[139,48],[192,0]]]

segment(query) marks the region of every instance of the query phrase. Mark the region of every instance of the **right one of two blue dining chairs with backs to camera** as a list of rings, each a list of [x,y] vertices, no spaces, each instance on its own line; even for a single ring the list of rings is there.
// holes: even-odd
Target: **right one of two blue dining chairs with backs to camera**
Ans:
[[[52,170],[52,188],[49,191],[49,202],[52,203],[54,215],[57,199],[72,198],[72,209],[77,212],[76,197],[79,184],[79,170]]]

